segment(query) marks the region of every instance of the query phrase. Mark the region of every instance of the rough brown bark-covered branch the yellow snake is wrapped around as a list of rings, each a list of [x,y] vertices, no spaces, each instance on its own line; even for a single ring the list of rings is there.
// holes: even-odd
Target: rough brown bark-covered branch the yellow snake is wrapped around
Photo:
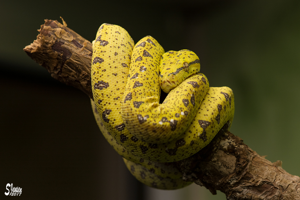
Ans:
[[[58,21],[45,20],[40,34],[23,50],[51,76],[82,90],[90,98],[91,42]],[[178,161],[184,179],[220,190],[227,199],[300,200],[300,178],[287,173],[281,161],[271,163],[230,132],[217,134],[197,154]]]

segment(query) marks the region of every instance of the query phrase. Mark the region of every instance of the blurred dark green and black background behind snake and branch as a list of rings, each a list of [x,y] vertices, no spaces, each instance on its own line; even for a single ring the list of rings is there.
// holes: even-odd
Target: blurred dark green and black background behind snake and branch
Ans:
[[[299,1],[1,1],[0,199],[226,199],[196,184],[163,191],[140,184],[105,141],[89,98],[31,60],[23,48],[44,19],[87,40],[102,23],[146,35],[166,51],[190,49],[210,86],[235,94],[231,132],[300,175]]]

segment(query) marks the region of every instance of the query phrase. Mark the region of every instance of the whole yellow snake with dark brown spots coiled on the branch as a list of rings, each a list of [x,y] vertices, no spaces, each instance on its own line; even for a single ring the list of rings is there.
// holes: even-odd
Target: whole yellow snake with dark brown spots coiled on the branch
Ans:
[[[102,24],[93,41],[91,100],[97,124],[142,183],[178,189],[191,182],[172,162],[205,147],[234,115],[228,87],[209,87],[190,50],[164,52],[151,36]],[[159,104],[161,88],[169,92]],[[227,128],[228,127],[228,128]]]

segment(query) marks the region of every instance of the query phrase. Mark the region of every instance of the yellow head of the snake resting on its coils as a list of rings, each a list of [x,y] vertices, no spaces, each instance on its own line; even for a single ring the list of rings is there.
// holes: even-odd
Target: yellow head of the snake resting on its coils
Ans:
[[[200,71],[198,56],[187,49],[168,51],[161,56],[159,64],[161,89],[169,93],[182,81]]]

